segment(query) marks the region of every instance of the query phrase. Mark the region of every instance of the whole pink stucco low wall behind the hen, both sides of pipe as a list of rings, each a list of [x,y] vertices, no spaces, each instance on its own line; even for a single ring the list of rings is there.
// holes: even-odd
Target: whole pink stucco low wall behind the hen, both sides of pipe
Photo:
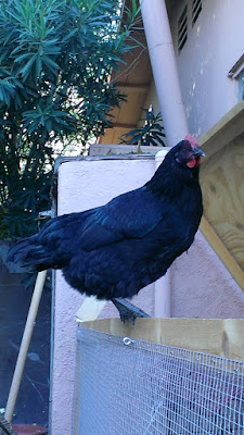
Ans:
[[[143,185],[155,171],[154,159],[81,160],[59,167],[59,214],[101,206],[121,192]],[[244,294],[198,233],[188,253],[171,268],[171,315],[244,318]],[[154,315],[154,285],[134,302]],[[75,313],[82,296],[56,274],[54,293],[54,349],[51,397],[51,434],[72,434],[75,377]],[[111,302],[101,318],[117,316]],[[95,434],[94,434],[95,435]]]

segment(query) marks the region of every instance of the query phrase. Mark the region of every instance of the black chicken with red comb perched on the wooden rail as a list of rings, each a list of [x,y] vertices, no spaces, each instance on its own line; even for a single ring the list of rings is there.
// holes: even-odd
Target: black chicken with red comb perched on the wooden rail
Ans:
[[[36,271],[62,269],[72,287],[112,300],[121,320],[146,316],[124,298],[163,276],[193,243],[203,213],[202,156],[188,135],[144,186],[103,207],[54,217],[18,241],[9,261]]]

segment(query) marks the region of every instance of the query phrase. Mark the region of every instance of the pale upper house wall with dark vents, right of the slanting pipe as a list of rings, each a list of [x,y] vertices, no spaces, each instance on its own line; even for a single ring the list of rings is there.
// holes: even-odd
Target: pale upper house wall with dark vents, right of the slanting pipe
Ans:
[[[188,40],[177,50],[178,20],[188,3]],[[237,102],[237,83],[229,71],[244,53],[244,1],[203,0],[194,26],[191,1],[175,1],[170,26],[191,134],[206,133]]]

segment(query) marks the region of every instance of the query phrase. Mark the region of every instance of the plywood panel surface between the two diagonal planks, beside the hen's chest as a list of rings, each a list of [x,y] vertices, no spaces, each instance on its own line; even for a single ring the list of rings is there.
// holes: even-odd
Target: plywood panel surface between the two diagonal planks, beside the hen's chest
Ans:
[[[244,271],[244,138],[232,140],[201,170],[207,221]]]

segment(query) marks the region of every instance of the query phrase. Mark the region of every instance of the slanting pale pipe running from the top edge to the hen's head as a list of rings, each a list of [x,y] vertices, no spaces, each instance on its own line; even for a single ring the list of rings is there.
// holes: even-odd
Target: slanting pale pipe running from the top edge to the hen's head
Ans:
[[[189,133],[165,0],[140,0],[167,145]]]

